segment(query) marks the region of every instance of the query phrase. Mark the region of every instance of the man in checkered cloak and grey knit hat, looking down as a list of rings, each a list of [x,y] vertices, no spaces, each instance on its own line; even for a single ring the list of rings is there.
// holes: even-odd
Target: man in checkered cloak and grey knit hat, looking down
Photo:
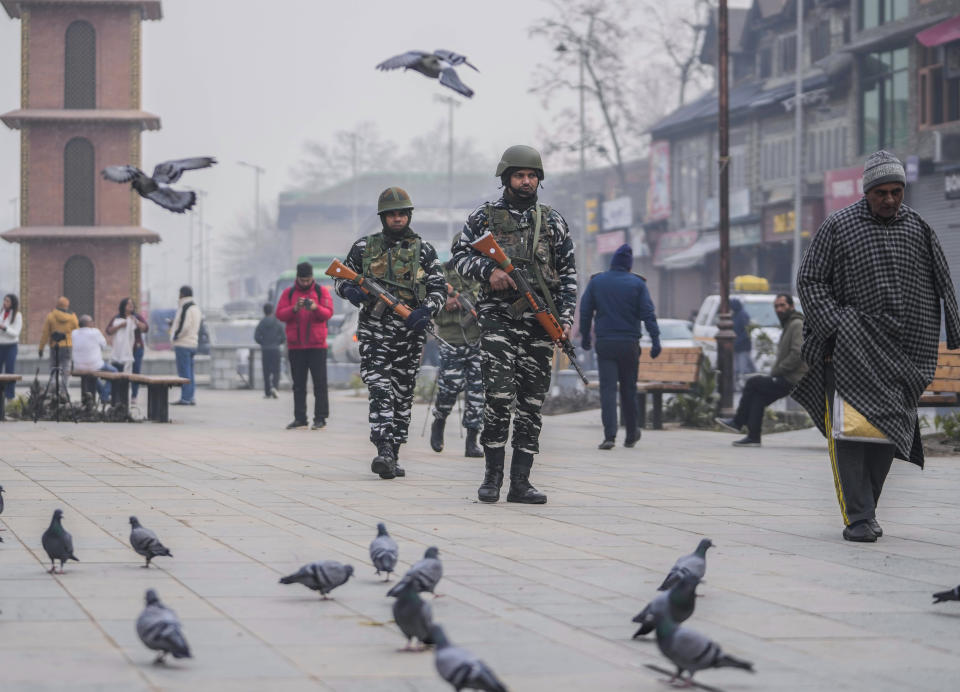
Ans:
[[[827,217],[797,272],[810,370],[793,396],[827,438],[848,541],[883,535],[877,503],[894,457],[923,468],[917,402],[936,372],[941,314],[947,347],[960,348],[949,266],[937,234],[903,203],[905,187],[895,156],[871,154],[864,196]],[[853,433],[857,414],[868,429]]]

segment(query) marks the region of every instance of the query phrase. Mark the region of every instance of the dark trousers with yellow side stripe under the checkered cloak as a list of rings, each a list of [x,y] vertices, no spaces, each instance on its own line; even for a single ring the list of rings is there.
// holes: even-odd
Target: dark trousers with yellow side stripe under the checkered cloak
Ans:
[[[833,485],[837,491],[843,523],[850,526],[876,517],[880,492],[893,464],[894,446],[877,442],[835,440],[831,428],[833,395],[836,390],[832,365],[827,364],[825,367],[823,380],[827,395],[827,449],[830,452]]]

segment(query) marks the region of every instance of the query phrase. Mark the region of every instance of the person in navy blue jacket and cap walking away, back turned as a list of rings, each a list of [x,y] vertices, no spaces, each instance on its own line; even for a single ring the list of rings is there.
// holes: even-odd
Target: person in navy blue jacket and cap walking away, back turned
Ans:
[[[600,409],[603,442],[599,449],[613,449],[617,437],[617,388],[627,429],[624,447],[640,439],[637,427],[637,366],[640,360],[640,323],[650,335],[650,357],[660,355],[660,327],[647,290],[646,280],[631,273],[633,250],[623,244],[610,260],[610,271],[594,274],[580,300],[581,346],[590,350],[590,324],[597,338],[597,369],[600,372]]]

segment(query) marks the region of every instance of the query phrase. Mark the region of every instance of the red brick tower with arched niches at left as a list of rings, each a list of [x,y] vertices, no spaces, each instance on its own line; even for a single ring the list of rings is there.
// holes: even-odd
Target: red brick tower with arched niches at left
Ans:
[[[159,0],[0,0],[20,20],[21,341],[36,344],[59,296],[103,328],[126,296],[140,300],[140,198],[103,180],[111,164],[140,166],[140,134],[160,119],[140,110],[140,23]]]

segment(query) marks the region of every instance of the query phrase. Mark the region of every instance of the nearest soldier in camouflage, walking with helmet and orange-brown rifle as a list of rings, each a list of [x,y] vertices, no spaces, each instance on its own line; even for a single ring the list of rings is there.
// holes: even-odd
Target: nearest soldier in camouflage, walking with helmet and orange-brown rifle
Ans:
[[[467,217],[453,251],[457,271],[481,283],[477,307],[486,401],[480,441],[486,473],[477,496],[482,502],[500,499],[510,408],[515,402],[507,502],[543,504],[547,497],[530,484],[530,469],[533,455],[540,451],[540,409],[550,387],[553,344],[513,279],[471,243],[492,232],[513,264],[527,271],[568,338],[577,302],[577,268],[566,221],[537,202],[543,163],[536,149],[510,147],[496,175],[503,183],[503,196]]]

